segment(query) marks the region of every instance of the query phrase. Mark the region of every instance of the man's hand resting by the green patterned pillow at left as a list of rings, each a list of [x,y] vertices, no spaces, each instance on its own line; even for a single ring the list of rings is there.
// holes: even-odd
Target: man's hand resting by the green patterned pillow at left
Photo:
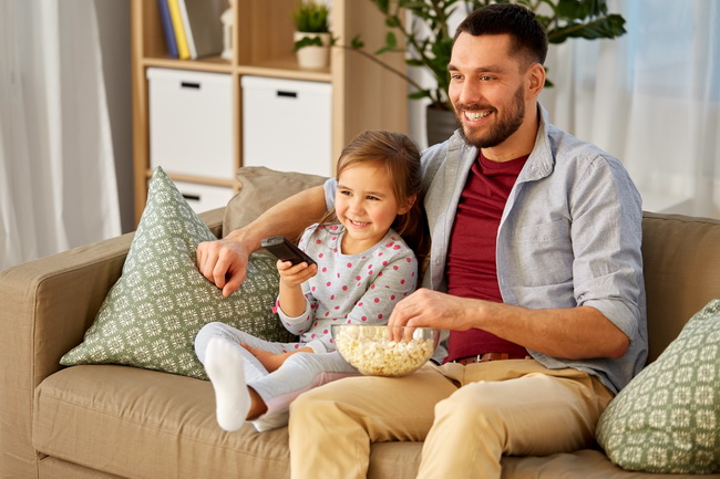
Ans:
[[[197,269],[227,298],[245,281],[250,251],[240,242],[224,239],[197,246]]]

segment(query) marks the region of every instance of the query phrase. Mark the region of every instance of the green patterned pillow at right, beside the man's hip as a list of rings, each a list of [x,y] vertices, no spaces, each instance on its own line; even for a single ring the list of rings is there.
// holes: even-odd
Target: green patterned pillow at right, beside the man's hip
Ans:
[[[624,469],[666,473],[720,471],[720,300],[610,403],[597,440]]]

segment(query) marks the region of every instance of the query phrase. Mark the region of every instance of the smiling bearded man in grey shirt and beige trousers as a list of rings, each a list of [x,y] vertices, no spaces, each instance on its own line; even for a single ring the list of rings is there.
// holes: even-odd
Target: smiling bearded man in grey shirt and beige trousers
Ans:
[[[640,198],[616,158],[547,122],[537,103],[546,52],[542,25],[517,4],[485,7],[459,27],[449,93],[462,134],[423,153],[426,288],[389,320],[450,330],[446,361],[298,397],[292,477],[362,478],[370,442],[424,440],[419,477],[500,478],[503,454],[588,445],[614,394],[641,368]],[[320,190],[301,200],[322,209]],[[291,204],[255,235],[279,226]],[[202,254],[219,287],[225,264],[244,268],[224,254],[240,258],[259,241],[237,235],[240,242]]]

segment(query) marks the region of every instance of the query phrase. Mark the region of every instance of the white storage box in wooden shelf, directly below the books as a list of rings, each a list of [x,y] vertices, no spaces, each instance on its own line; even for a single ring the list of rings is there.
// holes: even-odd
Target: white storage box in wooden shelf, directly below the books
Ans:
[[[147,79],[151,167],[234,178],[230,75],[153,67]]]

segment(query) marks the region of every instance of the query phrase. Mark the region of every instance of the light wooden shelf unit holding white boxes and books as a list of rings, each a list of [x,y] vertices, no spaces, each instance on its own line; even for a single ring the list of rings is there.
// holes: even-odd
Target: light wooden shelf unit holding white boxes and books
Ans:
[[[210,0],[207,0],[210,1]],[[222,0],[227,4],[227,0]],[[367,0],[329,0],[332,35],[352,39],[362,35],[368,50],[380,48],[384,38],[384,19],[372,2]],[[228,171],[243,165],[244,125],[253,118],[244,117],[241,79],[245,75],[270,79],[323,82],[331,85],[331,163],[344,145],[366,129],[408,132],[408,86],[401,79],[379,65],[343,49],[333,49],[331,64],[321,70],[302,70],[292,52],[292,20],[290,12],[297,0],[235,0],[236,29],[233,29],[234,58],[219,56],[198,60],[168,58],[157,0],[132,0],[132,77],[133,77],[133,165],[135,189],[135,219],[143,212],[147,180],[152,175],[150,158],[150,67],[189,70],[194,72],[233,75],[232,83],[232,150]],[[374,43],[373,43],[374,42]],[[390,55],[385,56],[385,61]],[[404,70],[401,55],[392,65]],[[307,123],[307,118],[300,118]],[[226,124],[223,124],[226,125]],[[325,129],[323,129],[325,131]],[[282,132],[272,132],[281,140]],[[183,175],[165,168],[171,178],[197,185],[239,187],[233,174],[226,178],[206,178]],[[302,165],[298,165],[302,170]]]

